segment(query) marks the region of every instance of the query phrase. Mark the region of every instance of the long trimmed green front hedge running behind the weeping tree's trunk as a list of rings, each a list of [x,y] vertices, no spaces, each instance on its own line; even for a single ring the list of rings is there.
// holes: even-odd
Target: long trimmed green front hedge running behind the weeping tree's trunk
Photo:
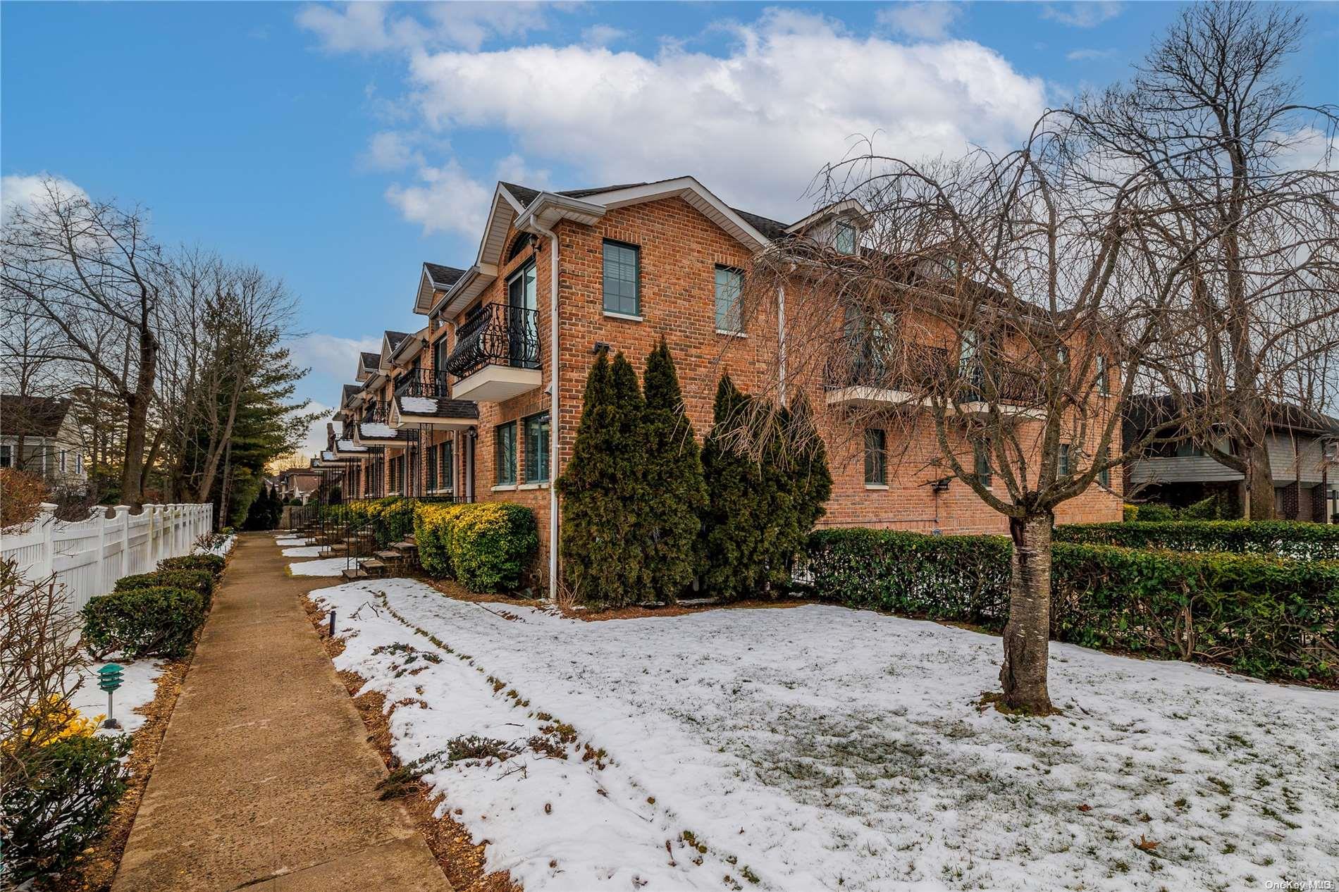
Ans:
[[[809,560],[819,597],[998,631],[1011,549],[992,536],[828,529]],[[1339,682],[1339,563],[1065,542],[1051,554],[1055,640]]]

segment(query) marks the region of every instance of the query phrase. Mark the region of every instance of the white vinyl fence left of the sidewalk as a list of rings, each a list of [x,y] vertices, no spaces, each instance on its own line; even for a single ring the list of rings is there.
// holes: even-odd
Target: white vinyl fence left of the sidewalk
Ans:
[[[99,508],[88,520],[68,524],[52,517],[54,509],[43,505],[37,520],[21,532],[0,530],[0,557],[17,560],[31,580],[55,573],[74,609],[110,592],[122,576],[147,573],[163,557],[189,554],[195,538],[214,528],[213,505],[145,505],[141,514],[116,505],[112,517]]]

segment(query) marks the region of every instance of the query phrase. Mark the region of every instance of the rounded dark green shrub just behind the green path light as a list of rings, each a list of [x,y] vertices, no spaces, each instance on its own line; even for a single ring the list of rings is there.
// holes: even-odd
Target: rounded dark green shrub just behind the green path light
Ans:
[[[205,599],[185,588],[129,588],[90,599],[82,611],[84,646],[94,656],[185,656],[205,621]]]

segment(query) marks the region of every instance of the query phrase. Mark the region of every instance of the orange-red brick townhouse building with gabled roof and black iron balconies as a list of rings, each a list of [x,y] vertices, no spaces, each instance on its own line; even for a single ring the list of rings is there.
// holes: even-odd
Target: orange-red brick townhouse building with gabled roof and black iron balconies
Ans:
[[[739,316],[744,271],[773,240],[813,238],[854,252],[864,221],[854,202],[794,224],[769,220],[730,208],[692,177],[558,193],[498,183],[474,261],[423,264],[414,311],[426,324],[388,331],[379,354],[359,356],[358,383],[344,386],[320,463],[345,469],[349,496],[528,505],[552,579],[552,482],[572,454],[595,356],[604,347],[623,351],[640,374],[664,336],[699,441],[722,372],[746,392],[809,394],[830,433],[825,524],[1004,532],[1004,518],[971,488],[935,485],[944,471],[929,466],[939,451],[932,429],[908,434],[876,422],[864,438],[837,433],[833,419],[844,408],[892,410],[896,392],[865,386],[858,375],[770,380],[785,367],[783,293],[775,305]],[[841,335],[838,320],[833,336]],[[959,346],[931,350],[947,358]],[[890,442],[898,437],[915,442]],[[886,461],[894,451],[902,461]],[[1118,477],[1103,475],[1058,518],[1119,520]]]

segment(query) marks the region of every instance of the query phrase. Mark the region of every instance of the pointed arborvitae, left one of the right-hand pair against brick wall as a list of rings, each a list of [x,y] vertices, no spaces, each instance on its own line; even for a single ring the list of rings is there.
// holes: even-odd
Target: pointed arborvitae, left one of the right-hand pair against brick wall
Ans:
[[[702,447],[707,512],[702,522],[702,584],[708,595],[751,597],[766,581],[766,510],[762,470],[738,449],[749,398],[730,375],[716,387],[711,433]]]

